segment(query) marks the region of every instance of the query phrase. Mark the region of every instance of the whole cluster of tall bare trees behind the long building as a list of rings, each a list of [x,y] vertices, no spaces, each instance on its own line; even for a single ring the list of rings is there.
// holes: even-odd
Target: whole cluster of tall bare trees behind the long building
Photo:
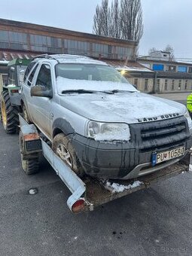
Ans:
[[[108,0],[96,6],[93,33],[126,40],[139,41],[143,34],[141,0]]]

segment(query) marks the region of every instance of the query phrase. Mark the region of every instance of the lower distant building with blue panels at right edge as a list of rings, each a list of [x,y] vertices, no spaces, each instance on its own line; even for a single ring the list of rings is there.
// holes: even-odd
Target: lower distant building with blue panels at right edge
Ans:
[[[154,92],[173,93],[192,90],[192,62],[177,62],[170,58],[170,53],[161,50],[137,60],[154,72]],[[147,87],[148,81],[145,80],[145,89]]]

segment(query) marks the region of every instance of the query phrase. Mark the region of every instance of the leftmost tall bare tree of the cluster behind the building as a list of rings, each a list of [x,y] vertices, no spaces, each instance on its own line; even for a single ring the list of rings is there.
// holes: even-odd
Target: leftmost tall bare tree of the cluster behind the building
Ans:
[[[108,0],[102,0],[101,7],[99,5],[96,6],[96,14],[93,17],[93,32],[96,35],[108,36],[109,16]]]

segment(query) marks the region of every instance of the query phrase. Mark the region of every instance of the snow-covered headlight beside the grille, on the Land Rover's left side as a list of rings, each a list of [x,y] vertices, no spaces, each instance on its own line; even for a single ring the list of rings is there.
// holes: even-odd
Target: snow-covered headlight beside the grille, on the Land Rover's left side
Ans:
[[[126,123],[99,123],[90,121],[87,137],[96,141],[130,141],[130,127]]]

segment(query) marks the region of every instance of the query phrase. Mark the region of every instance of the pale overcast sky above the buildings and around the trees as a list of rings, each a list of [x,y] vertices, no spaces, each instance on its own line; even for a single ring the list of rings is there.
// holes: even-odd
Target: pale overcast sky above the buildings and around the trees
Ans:
[[[0,18],[93,32],[93,15],[102,0],[6,0]],[[109,0],[111,2],[111,0]],[[178,59],[192,59],[192,0],[141,0],[144,34],[139,55],[170,44]]]

